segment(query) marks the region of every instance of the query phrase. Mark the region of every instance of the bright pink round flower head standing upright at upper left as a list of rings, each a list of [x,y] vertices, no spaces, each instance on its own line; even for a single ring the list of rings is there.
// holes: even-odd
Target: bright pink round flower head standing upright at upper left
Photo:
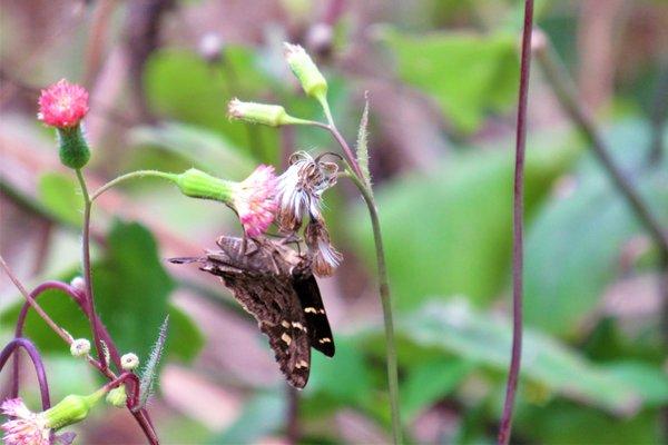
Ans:
[[[88,112],[88,91],[62,79],[42,90],[37,118],[48,126],[71,128]]]

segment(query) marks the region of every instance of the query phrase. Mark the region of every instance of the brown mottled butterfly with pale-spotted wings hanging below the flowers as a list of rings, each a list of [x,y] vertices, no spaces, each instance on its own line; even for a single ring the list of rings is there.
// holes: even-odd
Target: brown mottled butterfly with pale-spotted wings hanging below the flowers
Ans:
[[[197,261],[202,270],[220,277],[269,338],[287,380],[303,388],[311,370],[311,347],[330,357],[335,350],[311,257],[266,238],[243,243],[223,236],[217,241],[220,250],[173,263]]]

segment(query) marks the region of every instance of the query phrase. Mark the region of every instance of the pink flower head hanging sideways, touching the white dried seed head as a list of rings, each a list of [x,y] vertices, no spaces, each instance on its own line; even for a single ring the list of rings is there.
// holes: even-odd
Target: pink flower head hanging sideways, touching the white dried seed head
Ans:
[[[233,204],[239,214],[246,235],[264,234],[276,215],[277,178],[274,167],[259,166],[239,182],[234,191]]]

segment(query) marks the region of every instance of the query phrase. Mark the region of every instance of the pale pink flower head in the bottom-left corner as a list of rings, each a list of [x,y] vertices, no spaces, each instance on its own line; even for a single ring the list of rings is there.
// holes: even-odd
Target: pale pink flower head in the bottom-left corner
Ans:
[[[2,414],[9,417],[0,425],[7,445],[50,445],[51,429],[41,414],[32,413],[21,398],[9,398],[0,405]]]

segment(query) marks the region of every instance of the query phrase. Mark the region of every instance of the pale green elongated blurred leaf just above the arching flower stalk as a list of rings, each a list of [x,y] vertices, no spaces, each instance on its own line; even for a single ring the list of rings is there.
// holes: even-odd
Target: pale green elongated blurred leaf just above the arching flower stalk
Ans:
[[[178,122],[132,130],[131,141],[153,145],[177,154],[191,166],[229,179],[243,179],[253,171],[254,160],[222,135]]]

